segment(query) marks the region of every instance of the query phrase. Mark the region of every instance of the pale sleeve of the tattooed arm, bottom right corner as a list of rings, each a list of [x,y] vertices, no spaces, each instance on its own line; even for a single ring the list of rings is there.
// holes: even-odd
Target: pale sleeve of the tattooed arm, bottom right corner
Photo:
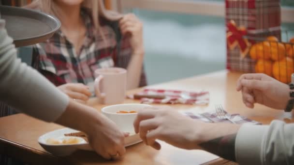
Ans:
[[[294,124],[242,125],[235,156],[240,165],[294,165]]]

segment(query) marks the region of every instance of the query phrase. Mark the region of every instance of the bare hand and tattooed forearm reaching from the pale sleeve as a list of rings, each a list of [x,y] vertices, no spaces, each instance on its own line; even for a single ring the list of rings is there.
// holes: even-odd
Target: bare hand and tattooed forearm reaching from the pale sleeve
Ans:
[[[235,137],[238,124],[211,124],[181,115],[175,109],[146,108],[134,121],[136,133],[144,143],[157,149],[163,140],[182,149],[202,149],[235,161]]]

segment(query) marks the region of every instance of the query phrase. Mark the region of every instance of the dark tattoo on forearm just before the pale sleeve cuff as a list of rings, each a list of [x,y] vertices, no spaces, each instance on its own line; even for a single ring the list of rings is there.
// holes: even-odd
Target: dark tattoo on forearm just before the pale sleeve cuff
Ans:
[[[233,134],[203,142],[199,146],[224,159],[236,162],[235,139],[236,134]]]

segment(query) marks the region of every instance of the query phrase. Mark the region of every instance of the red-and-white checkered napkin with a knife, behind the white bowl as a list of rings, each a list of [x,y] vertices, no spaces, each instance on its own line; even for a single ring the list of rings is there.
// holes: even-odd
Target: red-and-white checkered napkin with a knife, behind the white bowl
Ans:
[[[209,92],[188,92],[179,90],[164,90],[164,89],[144,89],[139,95],[163,95],[163,99],[141,98],[141,103],[144,104],[197,104],[206,105],[209,103]],[[128,96],[134,99],[133,95]],[[189,97],[189,98],[188,98]]]

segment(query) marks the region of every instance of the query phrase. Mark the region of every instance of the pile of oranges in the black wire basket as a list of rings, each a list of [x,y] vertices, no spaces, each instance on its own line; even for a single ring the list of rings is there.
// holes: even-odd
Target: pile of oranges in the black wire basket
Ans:
[[[294,73],[294,38],[281,43],[275,36],[251,46],[250,57],[256,61],[255,72],[265,73],[283,83],[291,82]]]

